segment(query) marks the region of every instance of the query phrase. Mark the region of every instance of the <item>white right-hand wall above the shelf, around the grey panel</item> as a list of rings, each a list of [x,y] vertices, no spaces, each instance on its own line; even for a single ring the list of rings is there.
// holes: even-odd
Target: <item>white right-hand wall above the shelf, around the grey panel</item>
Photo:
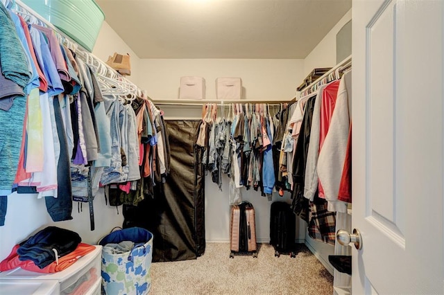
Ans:
[[[315,68],[327,68],[336,65],[336,34],[352,19],[352,10],[348,10],[340,21],[325,35],[321,42],[305,57],[304,78]],[[302,83],[302,80],[300,80]],[[299,86],[299,85],[298,85]]]

